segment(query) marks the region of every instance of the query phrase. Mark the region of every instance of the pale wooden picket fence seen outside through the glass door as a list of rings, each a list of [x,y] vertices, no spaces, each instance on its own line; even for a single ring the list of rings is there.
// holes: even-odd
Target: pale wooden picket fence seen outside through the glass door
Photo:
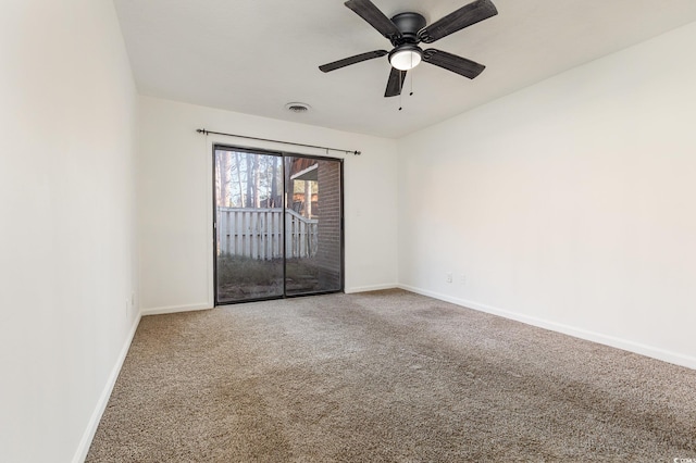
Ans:
[[[283,256],[283,209],[217,208],[217,252],[254,260]],[[313,258],[318,220],[285,210],[286,258]]]

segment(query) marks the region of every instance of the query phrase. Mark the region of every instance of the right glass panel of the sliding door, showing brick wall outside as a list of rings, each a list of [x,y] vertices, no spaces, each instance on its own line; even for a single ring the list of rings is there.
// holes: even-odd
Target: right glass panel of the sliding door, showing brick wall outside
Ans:
[[[343,290],[343,165],[286,157],[285,291]]]

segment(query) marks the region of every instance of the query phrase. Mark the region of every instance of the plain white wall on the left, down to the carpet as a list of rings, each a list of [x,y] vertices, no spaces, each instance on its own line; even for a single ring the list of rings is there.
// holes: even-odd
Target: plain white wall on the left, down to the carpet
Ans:
[[[138,318],[137,101],[112,2],[3,2],[0,70],[0,461],[80,461]]]

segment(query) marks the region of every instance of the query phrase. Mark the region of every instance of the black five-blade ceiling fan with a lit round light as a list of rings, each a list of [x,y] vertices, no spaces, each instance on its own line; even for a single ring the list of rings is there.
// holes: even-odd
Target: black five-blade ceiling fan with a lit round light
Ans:
[[[344,3],[366,21],[380,34],[389,39],[391,51],[375,50],[356,54],[319,66],[328,73],[350,64],[388,55],[391,72],[387,80],[385,97],[396,97],[401,93],[406,73],[415,67],[421,61],[443,67],[468,78],[474,78],[486,67],[474,61],[434,48],[421,49],[420,42],[432,43],[452,33],[476,24],[498,14],[498,10],[490,0],[476,0],[430,26],[419,13],[399,13],[390,20],[380,11],[370,0],[348,0]]]

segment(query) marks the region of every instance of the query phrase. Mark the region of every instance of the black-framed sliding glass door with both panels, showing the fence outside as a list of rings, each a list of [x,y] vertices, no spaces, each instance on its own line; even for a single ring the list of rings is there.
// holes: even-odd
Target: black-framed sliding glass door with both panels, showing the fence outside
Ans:
[[[343,290],[340,160],[214,147],[215,302]]]

